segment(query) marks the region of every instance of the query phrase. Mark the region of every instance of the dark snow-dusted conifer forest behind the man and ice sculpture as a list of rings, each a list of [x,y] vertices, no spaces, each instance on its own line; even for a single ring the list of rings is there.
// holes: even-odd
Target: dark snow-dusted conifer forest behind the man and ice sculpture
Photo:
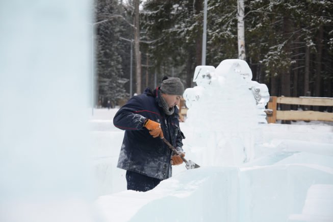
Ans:
[[[208,0],[206,65],[239,58],[239,1]],[[243,4],[252,80],[274,96],[333,97],[333,2]],[[204,0],[95,0],[96,103],[118,105],[131,92],[159,86],[164,76],[193,87],[194,69],[201,65],[203,8]]]

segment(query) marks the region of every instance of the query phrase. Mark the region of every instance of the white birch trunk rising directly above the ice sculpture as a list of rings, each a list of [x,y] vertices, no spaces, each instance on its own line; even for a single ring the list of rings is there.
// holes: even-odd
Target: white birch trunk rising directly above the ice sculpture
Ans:
[[[245,60],[244,0],[237,1],[238,58]]]

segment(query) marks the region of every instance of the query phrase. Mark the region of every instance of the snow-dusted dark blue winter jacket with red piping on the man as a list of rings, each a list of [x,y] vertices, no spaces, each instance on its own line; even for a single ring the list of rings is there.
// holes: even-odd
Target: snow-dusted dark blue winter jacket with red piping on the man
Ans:
[[[185,137],[179,128],[177,107],[172,115],[166,115],[158,103],[158,90],[147,88],[130,98],[114,116],[113,124],[125,130],[117,167],[164,180],[172,175],[171,150],[160,137],[149,134],[144,121],[148,118],[160,122],[164,137],[180,152]]]

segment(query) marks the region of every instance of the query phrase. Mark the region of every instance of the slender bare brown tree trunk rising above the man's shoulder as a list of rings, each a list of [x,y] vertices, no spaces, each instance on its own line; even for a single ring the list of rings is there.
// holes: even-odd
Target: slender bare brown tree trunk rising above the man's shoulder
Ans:
[[[134,51],[136,70],[136,92],[141,94],[141,52],[140,52],[140,23],[139,23],[139,0],[134,1]]]

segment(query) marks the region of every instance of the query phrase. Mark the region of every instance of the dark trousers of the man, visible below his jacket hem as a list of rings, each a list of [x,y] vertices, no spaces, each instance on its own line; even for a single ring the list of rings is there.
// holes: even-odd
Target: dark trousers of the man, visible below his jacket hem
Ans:
[[[148,191],[155,188],[162,181],[133,171],[126,171],[127,190]]]

